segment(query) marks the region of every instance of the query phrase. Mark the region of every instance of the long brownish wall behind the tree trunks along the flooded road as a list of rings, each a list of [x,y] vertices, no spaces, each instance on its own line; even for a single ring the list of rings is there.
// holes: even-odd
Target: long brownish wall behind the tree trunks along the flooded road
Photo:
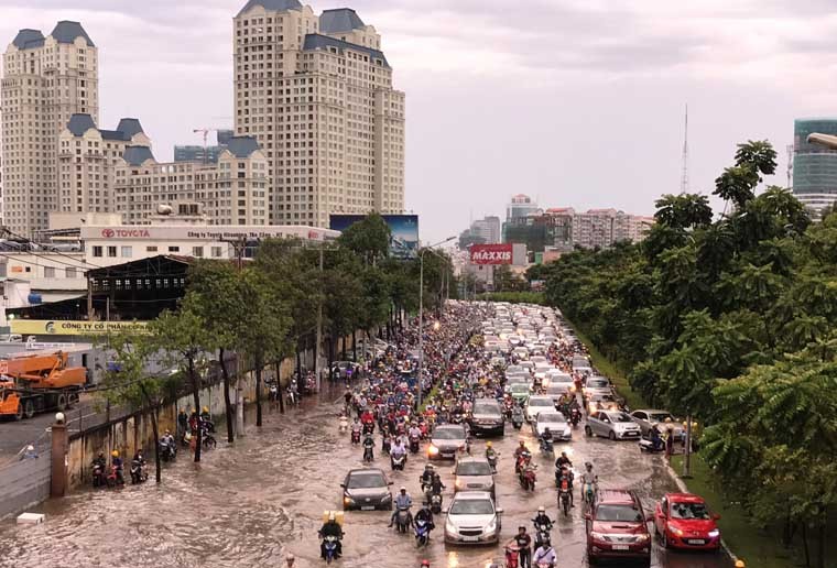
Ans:
[[[256,379],[252,374],[248,374],[241,380],[241,387],[244,402],[256,400]],[[230,397],[235,404],[235,387],[230,389]],[[267,392],[264,398],[267,400]],[[225,414],[224,384],[215,384],[200,391],[200,406],[208,406],[213,416],[222,418]],[[161,434],[166,428],[175,432],[177,412],[184,408],[188,413],[193,407],[193,397],[188,395],[180,397],[175,404],[160,408],[157,411],[157,426]],[[69,488],[90,483],[90,463],[100,451],[109,457],[110,452],[117,449],[128,463],[137,448],[142,447],[146,450],[146,459],[151,461],[154,444],[151,418],[141,415],[126,416],[73,435],[67,456]]]

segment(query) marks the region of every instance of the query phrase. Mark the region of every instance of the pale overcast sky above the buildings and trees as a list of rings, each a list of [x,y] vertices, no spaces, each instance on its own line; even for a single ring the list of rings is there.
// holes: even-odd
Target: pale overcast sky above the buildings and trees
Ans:
[[[157,160],[232,125],[232,0],[0,0],[0,36],[78,20],[99,47],[101,127],[138,117]],[[346,6],[317,0],[316,12]],[[406,204],[423,239],[543,207],[651,214],[735,145],[769,139],[785,185],[793,119],[837,114],[834,0],[355,0],[406,91]]]

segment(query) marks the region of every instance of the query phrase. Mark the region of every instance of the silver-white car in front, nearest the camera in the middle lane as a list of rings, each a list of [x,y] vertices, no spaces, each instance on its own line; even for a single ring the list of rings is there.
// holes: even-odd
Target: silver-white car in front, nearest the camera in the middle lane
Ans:
[[[443,510],[446,544],[489,544],[500,540],[503,510],[494,506],[488,491],[454,493],[450,505]]]

